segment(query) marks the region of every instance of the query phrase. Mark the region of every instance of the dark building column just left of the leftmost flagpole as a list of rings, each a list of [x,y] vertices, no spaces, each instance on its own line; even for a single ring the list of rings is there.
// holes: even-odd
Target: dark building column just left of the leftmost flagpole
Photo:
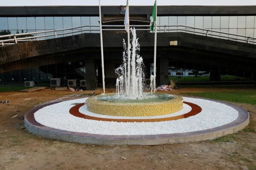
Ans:
[[[96,90],[97,88],[97,74],[96,74],[96,62],[94,59],[86,59],[85,62],[85,79],[86,90]]]

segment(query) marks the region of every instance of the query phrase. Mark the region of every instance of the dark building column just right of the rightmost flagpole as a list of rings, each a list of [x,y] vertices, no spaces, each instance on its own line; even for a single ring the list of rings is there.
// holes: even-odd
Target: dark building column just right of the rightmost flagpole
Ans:
[[[169,58],[160,58],[157,62],[157,85],[169,84]]]

